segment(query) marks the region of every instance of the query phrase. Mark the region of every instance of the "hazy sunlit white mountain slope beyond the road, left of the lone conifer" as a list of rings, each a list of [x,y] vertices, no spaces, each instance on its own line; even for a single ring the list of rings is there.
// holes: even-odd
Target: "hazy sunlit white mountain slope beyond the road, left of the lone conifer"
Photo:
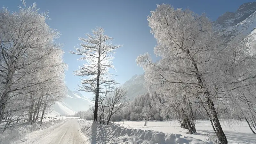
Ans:
[[[68,89],[67,96],[62,101],[53,105],[54,115],[74,115],[78,111],[86,111],[92,104],[91,100],[78,91]]]

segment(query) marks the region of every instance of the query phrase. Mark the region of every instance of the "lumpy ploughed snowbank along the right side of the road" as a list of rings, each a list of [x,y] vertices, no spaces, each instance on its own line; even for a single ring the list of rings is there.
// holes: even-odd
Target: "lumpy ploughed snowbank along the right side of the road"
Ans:
[[[126,144],[213,144],[211,141],[195,139],[174,133],[152,130],[128,129],[118,124],[102,125],[79,119],[82,132],[91,138],[92,143]]]

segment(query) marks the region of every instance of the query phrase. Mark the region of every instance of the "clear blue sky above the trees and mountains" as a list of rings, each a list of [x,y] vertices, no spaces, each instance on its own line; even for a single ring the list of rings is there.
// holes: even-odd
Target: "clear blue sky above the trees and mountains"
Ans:
[[[0,0],[1,6],[9,11],[18,11],[20,0]],[[156,45],[154,36],[149,33],[147,16],[156,4],[171,4],[175,8],[186,8],[201,14],[206,12],[211,20],[216,20],[224,12],[234,12],[243,3],[253,0],[26,0],[26,4],[36,2],[41,11],[49,10],[52,20],[47,24],[61,32],[56,42],[64,44],[64,61],[68,64],[66,84],[71,90],[80,84],[79,76],[73,76],[73,71],[82,65],[78,56],[69,51],[85,37],[91,29],[101,26],[105,34],[114,38],[113,43],[124,44],[116,51],[113,64],[116,67],[114,78],[123,84],[135,74],[142,74],[143,69],[137,66],[138,55],[149,52],[152,56]],[[156,60],[156,57],[154,57]],[[83,93],[83,92],[82,92]],[[83,93],[87,96],[91,95]],[[90,96],[89,96],[90,97]]]

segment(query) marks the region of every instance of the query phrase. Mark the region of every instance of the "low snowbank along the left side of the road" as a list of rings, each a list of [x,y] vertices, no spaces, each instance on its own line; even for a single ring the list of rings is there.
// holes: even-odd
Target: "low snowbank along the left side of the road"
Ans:
[[[41,129],[46,129],[46,128],[48,128],[54,124],[60,123],[60,122],[63,122],[63,121],[59,121],[59,120],[48,120],[45,122],[43,121],[43,123],[41,125]],[[39,130],[40,123],[41,122],[37,122],[35,124],[32,124],[32,126],[30,126],[30,122],[20,123],[20,124],[17,124],[16,126],[12,127],[11,129],[5,130],[3,133],[1,131],[0,143],[1,144],[9,144],[16,140],[20,140],[26,134],[36,131],[36,130]]]

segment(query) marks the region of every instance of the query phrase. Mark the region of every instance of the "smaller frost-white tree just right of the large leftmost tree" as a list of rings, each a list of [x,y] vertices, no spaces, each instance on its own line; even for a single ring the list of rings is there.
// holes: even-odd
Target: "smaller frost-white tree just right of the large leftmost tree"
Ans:
[[[35,81],[47,81],[30,87],[33,91],[28,91],[28,120],[32,123],[36,122],[39,112],[42,111],[41,117],[44,116],[45,110],[50,108],[56,101],[61,100],[66,95],[65,70],[66,65],[62,60],[63,51],[56,47],[40,64],[42,69],[37,71],[34,76],[28,78]]]

